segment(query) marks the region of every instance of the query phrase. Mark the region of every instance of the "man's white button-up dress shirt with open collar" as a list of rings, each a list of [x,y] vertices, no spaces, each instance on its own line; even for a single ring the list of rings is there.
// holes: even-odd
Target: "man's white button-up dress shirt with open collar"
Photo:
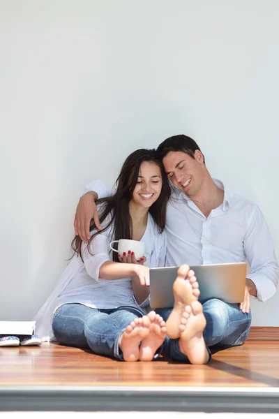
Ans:
[[[167,205],[165,266],[247,260],[247,278],[255,283],[257,299],[266,301],[276,292],[279,267],[264,216],[255,203],[213,180],[224,190],[224,200],[207,218],[183,191],[172,186]],[[110,193],[100,180],[87,185],[86,191],[96,191],[99,198]]]

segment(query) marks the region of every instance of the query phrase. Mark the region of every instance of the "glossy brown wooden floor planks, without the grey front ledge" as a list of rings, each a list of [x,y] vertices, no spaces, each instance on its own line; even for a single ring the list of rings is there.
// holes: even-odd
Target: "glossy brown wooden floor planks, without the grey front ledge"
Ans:
[[[279,388],[279,328],[253,328],[243,346],[219,351],[209,365],[161,358],[121,362],[58,344],[0,348],[0,387],[34,385]]]

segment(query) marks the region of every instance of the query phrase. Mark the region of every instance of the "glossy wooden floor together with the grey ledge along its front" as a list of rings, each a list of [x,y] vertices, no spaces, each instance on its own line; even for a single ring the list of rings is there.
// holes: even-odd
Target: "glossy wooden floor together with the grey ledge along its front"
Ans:
[[[209,365],[43,344],[0,348],[0,371],[0,411],[279,413],[279,328],[253,328]]]

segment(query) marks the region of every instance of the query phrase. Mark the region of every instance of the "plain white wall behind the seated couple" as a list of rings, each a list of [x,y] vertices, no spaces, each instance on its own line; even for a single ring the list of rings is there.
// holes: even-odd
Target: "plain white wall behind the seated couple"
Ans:
[[[1,0],[0,318],[30,319],[70,256],[84,184],[193,136],[255,200],[279,257],[277,0]],[[254,325],[279,325],[278,295]],[[261,309],[261,313],[259,313]]]

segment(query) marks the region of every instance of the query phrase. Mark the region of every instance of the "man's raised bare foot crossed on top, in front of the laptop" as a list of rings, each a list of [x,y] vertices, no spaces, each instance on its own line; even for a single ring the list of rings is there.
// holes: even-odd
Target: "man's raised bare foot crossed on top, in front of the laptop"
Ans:
[[[179,337],[179,325],[186,305],[190,305],[199,297],[199,284],[195,272],[188,265],[181,265],[174,281],[174,308],[166,321],[167,336],[171,339]]]

